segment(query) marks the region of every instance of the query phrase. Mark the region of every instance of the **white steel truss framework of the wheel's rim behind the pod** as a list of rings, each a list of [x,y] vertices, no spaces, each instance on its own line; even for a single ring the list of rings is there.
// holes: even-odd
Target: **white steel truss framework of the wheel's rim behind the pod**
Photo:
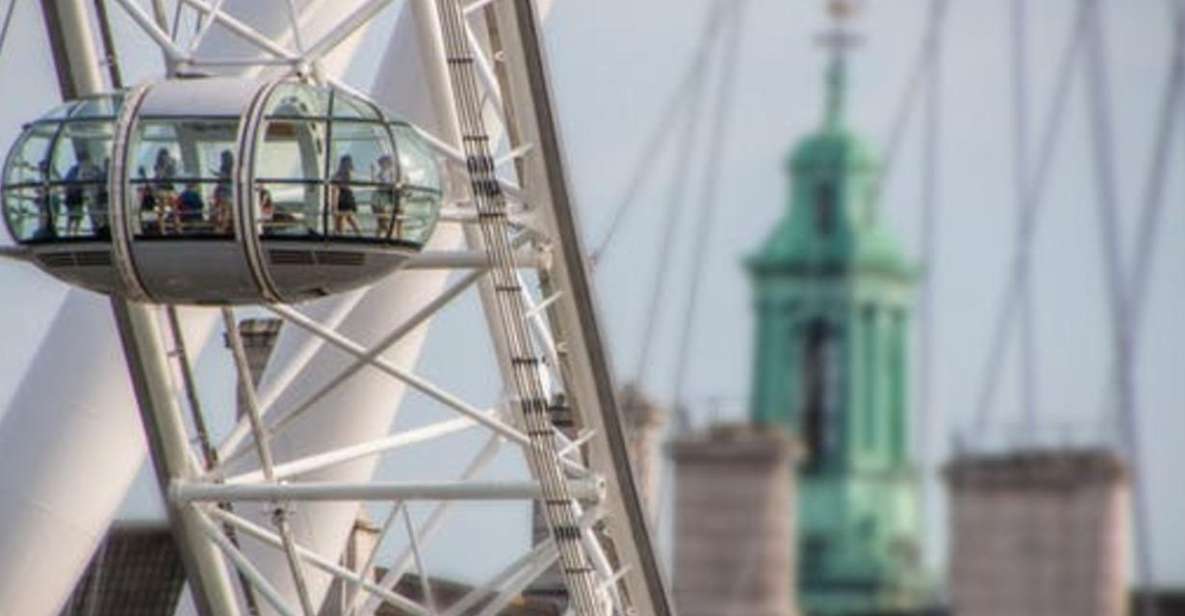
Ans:
[[[161,49],[172,72],[278,66],[350,90],[327,75],[321,60],[392,4],[363,1],[320,39],[307,41],[300,33],[295,2],[288,0],[289,46],[225,12],[224,0],[179,0],[172,28],[160,0],[154,0],[153,14],[135,0],[114,1]],[[59,24],[64,40],[89,36],[89,27],[79,25],[85,15],[81,0],[47,0],[46,5],[79,17],[78,23]],[[200,24],[188,40],[181,40],[184,34],[175,26],[182,8]],[[213,413],[209,405],[199,405],[198,379],[173,308],[113,301],[194,603],[205,614],[238,614],[242,607],[254,612],[267,607],[277,614],[313,616],[320,608],[320,597],[309,590],[315,571],[342,580],[347,614],[372,614],[383,602],[410,614],[497,614],[558,563],[574,614],[670,614],[630,475],[566,193],[537,8],[531,0],[476,0],[467,6],[438,0],[418,2],[411,11],[418,20],[421,53],[433,66],[428,89],[434,107],[449,118],[442,134],[425,135],[450,161],[457,180],[441,224],[461,225],[468,243],[467,250],[422,255],[411,268],[455,269],[460,271],[455,282],[406,320],[391,323],[389,333],[377,340],[352,339],[338,329],[340,319],[333,315],[319,320],[292,306],[262,306],[318,344],[352,358],[315,393],[284,408],[277,400],[300,371],[301,360],[261,391],[252,383],[236,314],[222,309],[245,412],[217,443],[207,428]],[[213,24],[262,56],[201,56],[201,41]],[[96,90],[98,64],[92,53],[79,56],[71,49],[58,59],[71,94]],[[482,302],[498,355],[504,399],[493,408],[468,402],[448,385],[383,358],[384,351],[425,327],[467,293],[476,293]],[[363,371],[396,379],[455,417],[277,460],[274,439]],[[565,434],[556,428],[557,411],[571,415],[572,430]],[[480,431],[486,438],[455,480],[346,483],[306,479],[462,431]],[[506,444],[523,451],[531,477],[475,479]],[[301,508],[325,500],[386,503],[377,541],[384,545],[401,527],[408,540],[382,579],[367,575],[380,548],[350,569],[340,564],[340,554],[318,553],[297,540],[294,530],[302,524]],[[551,538],[512,554],[501,571],[455,604],[437,605],[425,546],[447,524],[451,508],[491,500],[538,503],[546,512]],[[433,505],[416,524],[409,503],[419,501]],[[252,507],[258,511],[260,502],[267,503],[269,524],[242,513]],[[278,584],[274,571],[269,577],[243,548],[244,539],[283,554],[288,566],[282,573],[290,579]],[[396,584],[412,570],[419,578],[421,599],[396,591]],[[280,590],[289,583],[294,592]]]

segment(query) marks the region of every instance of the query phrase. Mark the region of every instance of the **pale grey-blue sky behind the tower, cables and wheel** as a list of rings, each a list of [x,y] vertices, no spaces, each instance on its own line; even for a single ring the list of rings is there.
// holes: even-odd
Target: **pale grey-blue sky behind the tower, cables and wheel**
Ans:
[[[942,104],[937,168],[936,255],[930,264],[934,284],[935,371],[934,421],[920,426],[934,450],[930,470],[947,453],[952,435],[965,430],[975,411],[992,325],[1003,294],[1013,248],[1012,102],[1008,6],[1011,2],[954,0],[943,31]],[[1030,100],[1032,135],[1045,123],[1052,76],[1070,31],[1072,2],[1029,2]],[[672,182],[668,147],[655,160],[640,161],[654,127],[668,113],[667,98],[696,56],[709,0],[557,0],[547,24],[557,110],[587,245],[604,236],[632,175],[642,166],[647,181],[626,224],[601,255],[595,270],[598,307],[619,380],[635,377],[648,290],[654,284],[658,243]],[[1104,2],[1106,39],[1112,81],[1110,107],[1115,135],[1125,259],[1134,244],[1134,226],[1155,131],[1160,90],[1167,70],[1171,25],[1166,2]],[[21,96],[0,103],[0,142],[9,143],[19,124],[56,101],[52,64],[34,6],[18,6],[18,27],[0,54],[0,83],[23,84]],[[925,17],[922,0],[867,1],[853,23],[863,34],[850,63],[847,123],[883,152],[893,126],[907,76],[921,41]],[[117,19],[120,19],[117,17]],[[390,18],[384,18],[390,23]],[[122,24],[122,25],[121,25]],[[364,50],[380,51],[382,30],[372,31]],[[734,75],[732,107],[726,137],[711,147],[699,131],[693,145],[693,184],[681,206],[675,263],[660,313],[655,362],[647,390],[664,402],[673,396],[681,315],[686,304],[693,251],[706,251],[691,332],[688,386],[697,425],[739,419],[747,412],[752,319],[750,288],[739,262],[769,233],[786,208],[783,156],[795,140],[821,121],[824,53],[815,43],[826,27],[822,2],[749,0],[743,14],[741,46]],[[123,56],[132,75],[159,71],[155,54],[135,43],[126,21],[117,31],[129,39]],[[363,53],[360,57],[373,57]],[[719,62],[719,50],[710,56]],[[706,72],[718,84],[715,64]],[[372,63],[351,68],[352,83],[369,83]],[[1075,438],[1115,437],[1108,400],[1110,378],[1109,316],[1102,277],[1100,225],[1094,190],[1091,141],[1083,73],[1074,84],[1065,133],[1051,167],[1044,213],[1035,237],[1036,376],[1039,423],[1045,435]],[[715,86],[718,88],[718,86]],[[711,110],[713,97],[705,102]],[[690,102],[685,101],[685,103]],[[920,110],[918,110],[920,111]],[[922,120],[915,113],[902,150],[882,197],[883,219],[920,256]],[[711,114],[698,122],[706,128]],[[1173,162],[1166,187],[1166,210],[1151,274],[1147,314],[1140,332],[1136,384],[1146,485],[1152,512],[1154,563],[1159,582],[1185,584],[1185,494],[1176,477],[1183,462],[1185,379],[1179,378],[1185,344],[1179,315],[1185,312],[1185,130],[1172,136]],[[1036,139],[1033,140],[1036,141]],[[1035,146],[1031,145],[1031,150]],[[1033,158],[1031,154],[1030,158]],[[718,178],[718,214],[706,242],[692,243],[691,220],[703,198],[706,174]],[[0,399],[19,383],[63,288],[27,267],[0,263],[0,281],[13,289],[0,302],[7,352],[0,355]],[[425,372],[441,370],[449,347],[470,339],[475,308],[462,304],[441,316],[425,349]],[[455,327],[454,327],[455,326]],[[1014,345],[1013,345],[1014,347]],[[915,349],[916,358],[916,349]],[[988,441],[1014,442],[1019,435],[1018,357],[1005,362]],[[209,378],[214,378],[213,376]],[[915,383],[915,389],[916,389]],[[468,385],[488,394],[485,383]],[[485,392],[485,393],[476,393]],[[717,402],[713,402],[717,400]],[[930,474],[933,477],[933,473]],[[931,481],[933,483],[933,481]],[[141,481],[129,498],[128,514],[146,511],[152,485]],[[930,519],[940,520],[941,499],[931,499]],[[150,509],[150,507],[148,507]],[[941,524],[931,524],[935,545],[943,543]]]

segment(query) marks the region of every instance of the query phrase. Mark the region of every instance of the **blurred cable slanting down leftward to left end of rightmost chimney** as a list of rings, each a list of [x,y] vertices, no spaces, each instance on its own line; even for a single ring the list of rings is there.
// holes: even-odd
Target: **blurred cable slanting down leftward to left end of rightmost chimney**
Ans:
[[[1027,206],[1020,218],[1017,230],[1017,243],[1029,245],[1037,229],[1049,168],[1052,163],[1053,154],[1061,141],[1062,128],[1065,121],[1065,107],[1069,101],[1070,86],[1074,83],[1074,66],[1082,50],[1084,32],[1088,25],[1089,11],[1085,5],[1080,4],[1075,15],[1074,26],[1070,30],[1070,38],[1062,57],[1058,60],[1057,82],[1053,85],[1053,96],[1050,101],[1049,111],[1045,116],[1045,130],[1042,134],[1039,149],[1037,150],[1037,167],[1027,177],[1029,197],[1025,199]],[[975,421],[973,423],[973,436],[985,437],[988,419],[991,418],[992,404],[999,385],[1000,371],[1004,364],[1004,355],[1007,352],[1010,326],[1017,309],[1016,289],[1020,282],[1020,271],[1029,268],[1032,258],[1031,251],[1020,250],[1013,255],[1008,280],[1005,283],[1000,296],[1000,307],[992,329],[992,346],[988,349],[987,362],[984,368],[982,386],[975,404]]]

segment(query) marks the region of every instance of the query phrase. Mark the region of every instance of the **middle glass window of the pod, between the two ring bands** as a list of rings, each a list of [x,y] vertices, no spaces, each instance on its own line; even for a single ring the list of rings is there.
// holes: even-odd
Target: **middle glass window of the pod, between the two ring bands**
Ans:
[[[237,131],[231,120],[141,121],[128,163],[137,236],[232,233]]]

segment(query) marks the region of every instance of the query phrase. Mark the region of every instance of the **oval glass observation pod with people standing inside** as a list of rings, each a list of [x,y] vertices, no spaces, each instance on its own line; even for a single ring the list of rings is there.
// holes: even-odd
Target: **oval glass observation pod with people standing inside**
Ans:
[[[294,79],[169,79],[27,124],[2,206],[70,284],[161,303],[299,302],[421,250],[441,169],[406,122]]]

